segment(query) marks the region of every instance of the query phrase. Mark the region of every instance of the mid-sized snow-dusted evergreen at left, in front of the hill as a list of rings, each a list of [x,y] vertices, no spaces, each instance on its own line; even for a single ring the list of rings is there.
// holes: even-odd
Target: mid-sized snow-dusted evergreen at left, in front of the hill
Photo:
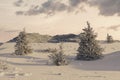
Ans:
[[[26,55],[32,53],[32,49],[29,46],[29,41],[27,40],[27,33],[25,29],[19,33],[15,45],[16,55]]]

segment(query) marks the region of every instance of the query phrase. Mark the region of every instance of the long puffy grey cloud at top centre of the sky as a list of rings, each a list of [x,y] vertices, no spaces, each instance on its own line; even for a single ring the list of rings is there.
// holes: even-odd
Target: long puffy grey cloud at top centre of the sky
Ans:
[[[68,8],[68,6],[65,5],[64,3],[53,0],[48,0],[47,2],[43,3],[41,6],[42,7],[39,7],[38,5],[34,6],[30,8],[28,11],[26,11],[25,14],[37,15],[44,13],[47,15],[51,15],[54,14],[55,12],[65,11]]]

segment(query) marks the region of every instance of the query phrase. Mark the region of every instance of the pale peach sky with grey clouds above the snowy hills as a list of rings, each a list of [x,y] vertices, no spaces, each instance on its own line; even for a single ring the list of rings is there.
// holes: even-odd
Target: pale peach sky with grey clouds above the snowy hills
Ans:
[[[89,21],[106,39],[109,33],[120,40],[120,0],[0,0],[0,42],[27,32],[79,34]]]

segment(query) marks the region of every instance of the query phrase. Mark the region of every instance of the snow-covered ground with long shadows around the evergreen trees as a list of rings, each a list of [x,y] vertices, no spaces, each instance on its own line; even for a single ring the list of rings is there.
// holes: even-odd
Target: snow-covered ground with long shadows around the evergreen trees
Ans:
[[[120,80],[120,42],[100,43],[104,58],[96,61],[77,61],[77,43],[64,43],[63,50],[70,64],[55,66],[49,63],[48,55],[41,52],[59,48],[59,43],[33,43],[34,52],[27,56],[16,56],[15,43],[0,46],[0,60],[12,67],[0,71],[0,80]]]

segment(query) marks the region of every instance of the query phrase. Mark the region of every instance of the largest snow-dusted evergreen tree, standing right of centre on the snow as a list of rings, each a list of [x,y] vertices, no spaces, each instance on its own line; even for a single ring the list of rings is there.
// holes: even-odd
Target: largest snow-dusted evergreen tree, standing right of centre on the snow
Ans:
[[[102,48],[98,45],[96,40],[97,35],[94,34],[93,28],[87,22],[87,28],[83,29],[80,34],[80,47],[78,48],[78,60],[95,60],[102,57]]]

